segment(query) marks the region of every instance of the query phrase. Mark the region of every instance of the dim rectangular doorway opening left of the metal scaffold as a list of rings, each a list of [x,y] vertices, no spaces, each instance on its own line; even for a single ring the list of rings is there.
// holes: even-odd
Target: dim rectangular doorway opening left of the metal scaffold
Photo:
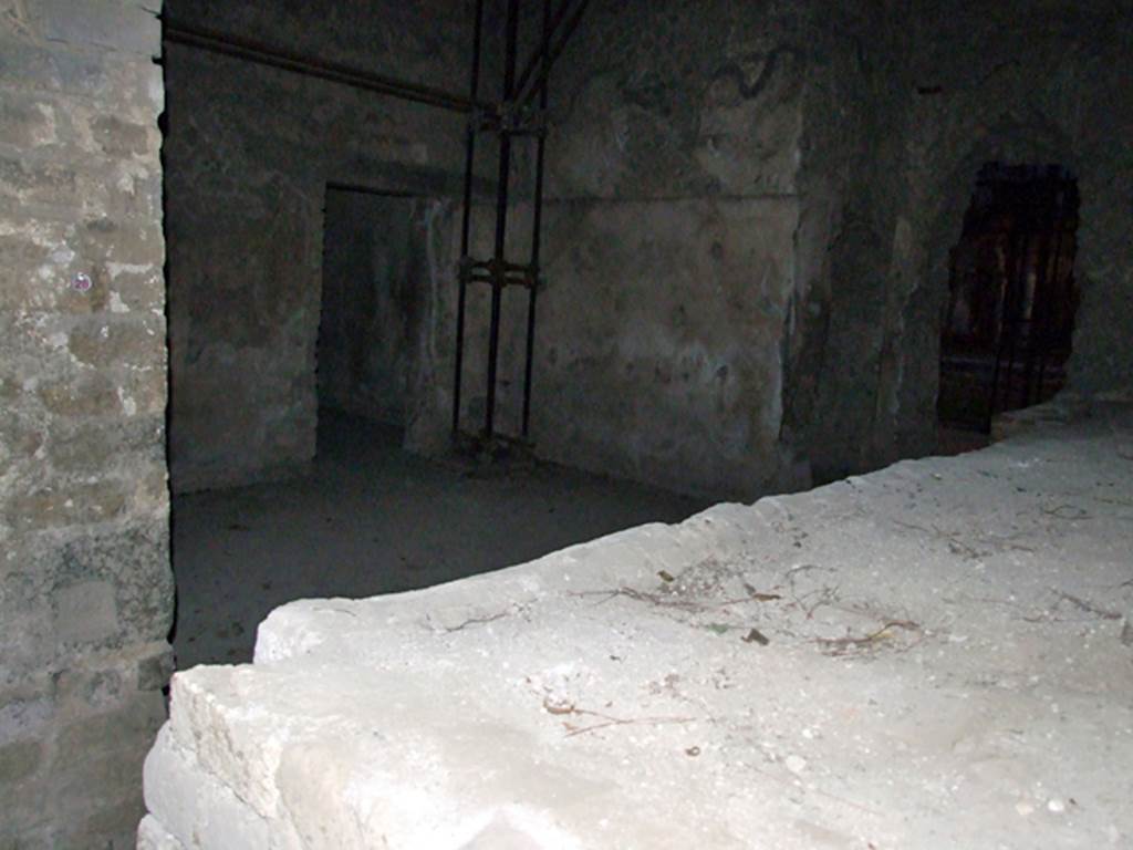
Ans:
[[[427,291],[426,198],[330,185],[316,357],[320,425],[402,430]]]

